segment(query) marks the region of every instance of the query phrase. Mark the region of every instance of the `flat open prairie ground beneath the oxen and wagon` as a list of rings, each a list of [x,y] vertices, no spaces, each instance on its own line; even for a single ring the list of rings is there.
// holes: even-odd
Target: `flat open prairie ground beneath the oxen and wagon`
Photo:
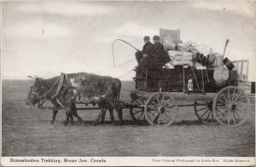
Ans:
[[[3,81],[3,156],[255,156],[255,107],[236,128],[199,124],[193,107],[180,109],[170,127],[134,124],[128,110],[122,126],[110,124],[108,113],[106,124],[91,126],[99,111],[79,111],[84,124],[66,127],[64,111],[53,125],[51,111],[26,108],[31,85]],[[121,100],[129,100],[131,87],[123,84]]]

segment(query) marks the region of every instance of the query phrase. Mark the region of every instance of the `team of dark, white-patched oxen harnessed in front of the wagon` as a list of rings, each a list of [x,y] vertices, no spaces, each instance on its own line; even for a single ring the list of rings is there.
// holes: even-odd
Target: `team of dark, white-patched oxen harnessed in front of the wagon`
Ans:
[[[44,101],[51,101],[54,105],[51,123],[55,122],[56,114],[61,107],[65,108],[67,115],[64,124],[68,124],[69,120],[73,124],[73,116],[83,123],[83,119],[79,117],[76,109],[76,103],[79,101],[85,105],[98,104],[101,108],[94,124],[104,122],[107,109],[110,112],[111,121],[115,122],[113,118],[113,109],[115,109],[118,112],[120,124],[122,124],[122,109],[119,107],[121,89],[119,79],[85,72],[67,75],[61,73],[60,77],[34,79],[35,83],[27,95],[26,105],[38,104],[40,107]]]

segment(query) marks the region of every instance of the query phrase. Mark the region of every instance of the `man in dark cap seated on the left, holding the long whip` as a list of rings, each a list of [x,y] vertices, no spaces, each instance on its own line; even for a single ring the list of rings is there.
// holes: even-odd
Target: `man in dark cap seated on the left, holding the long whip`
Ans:
[[[143,50],[137,50],[135,53],[137,63],[140,65],[140,62],[143,60],[144,57],[148,56],[148,54],[152,51],[154,48],[153,43],[150,43],[150,38],[148,36],[144,37],[144,46]]]

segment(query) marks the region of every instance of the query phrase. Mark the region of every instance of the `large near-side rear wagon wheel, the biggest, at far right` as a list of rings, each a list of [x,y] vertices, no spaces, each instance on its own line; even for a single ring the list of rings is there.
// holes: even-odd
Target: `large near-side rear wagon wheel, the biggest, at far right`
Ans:
[[[238,126],[243,124],[250,109],[249,97],[243,89],[236,86],[221,89],[213,101],[213,113],[217,121],[223,125]]]

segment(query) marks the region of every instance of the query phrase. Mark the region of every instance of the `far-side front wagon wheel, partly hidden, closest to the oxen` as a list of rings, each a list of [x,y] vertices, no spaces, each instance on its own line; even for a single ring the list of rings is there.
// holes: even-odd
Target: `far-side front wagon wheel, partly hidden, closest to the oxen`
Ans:
[[[130,108],[130,113],[131,113],[131,118],[135,123],[138,123],[138,121],[143,121],[145,120],[145,115],[144,115],[144,100],[141,101],[131,101],[131,103],[137,105],[138,107],[131,107]]]

